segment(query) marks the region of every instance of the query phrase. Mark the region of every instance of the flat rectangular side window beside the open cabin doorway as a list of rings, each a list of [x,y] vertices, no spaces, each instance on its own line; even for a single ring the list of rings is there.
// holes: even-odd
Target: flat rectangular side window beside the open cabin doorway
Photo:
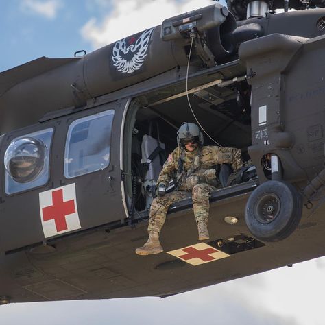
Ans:
[[[73,178],[110,164],[110,136],[114,110],[77,119],[68,130],[64,176]]]

